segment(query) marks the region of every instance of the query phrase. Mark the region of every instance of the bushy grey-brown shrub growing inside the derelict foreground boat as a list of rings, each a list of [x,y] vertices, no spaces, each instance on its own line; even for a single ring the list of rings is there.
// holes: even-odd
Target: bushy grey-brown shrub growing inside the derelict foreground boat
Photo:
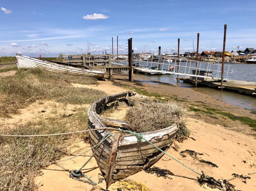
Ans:
[[[177,102],[147,102],[129,109],[125,120],[129,130],[140,133],[179,124],[186,112],[187,109]]]

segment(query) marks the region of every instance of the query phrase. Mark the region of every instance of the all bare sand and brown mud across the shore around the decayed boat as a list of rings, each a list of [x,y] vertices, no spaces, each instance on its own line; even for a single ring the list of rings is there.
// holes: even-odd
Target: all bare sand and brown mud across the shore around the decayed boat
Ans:
[[[236,114],[237,116],[248,116],[253,119],[256,118],[255,114],[250,113],[249,110],[226,104],[222,101],[216,100],[209,95],[199,93],[192,89],[174,87],[162,85],[159,83],[142,83],[143,86],[136,83],[120,80],[121,78],[127,78],[127,75],[114,75],[118,78],[115,81],[123,85],[113,85],[112,81],[106,79],[106,81],[99,81],[99,85],[80,85],[72,84],[76,87],[90,87],[93,89],[103,90],[107,94],[117,94],[127,90],[132,90],[133,87],[147,90],[152,93],[156,92],[161,94],[165,98],[175,98],[176,100],[182,100],[185,105],[188,104],[200,104],[203,103],[212,108],[222,109],[226,112]],[[141,76],[136,76],[136,80],[146,79]],[[38,116],[44,116],[42,110],[50,112],[55,108],[63,108],[59,103],[53,101],[44,101],[44,104],[40,104],[37,101],[31,104],[28,108],[22,109],[20,114],[12,115],[12,119],[5,119],[4,124],[12,124],[15,122],[26,122],[29,119],[37,118]],[[54,106],[55,104],[55,106]],[[72,109],[72,106],[64,107],[60,109],[60,112],[68,112]],[[123,113],[125,110],[121,111]],[[54,114],[54,112],[52,112]],[[49,113],[48,113],[49,115]],[[111,116],[111,115],[110,115]],[[114,116],[111,116],[114,117]],[[3,120],[3,119],[1,119]],[[10,120],[10,121],[9,121]],[[183,143],[176,142],[179,147],[175,151],[172,147],[167,151],[170,155],[176,157],[182,163],[192,167],[198,172],[204,171],[205,174],[213,176],[215,179],[229,179],[233,176],[231,174],[247,174],[256,171],[256,139],[252,136],[252,128],[247,125],[241,124],[239,121],[229,121],[225,118],[211,118],[205,114],[189,112],[186,117],[187,126],[191,130],[191,136]],[[3,122],[3,121],[2,121]],[[227,126],[223,125],[224,123]],[[73,154],[83,152],[87,148],[90,148],[88,143],[78,142],[76,148],[71,149]],[[172,145],[174,147],[174,145]],[[190,149],[203,155],[199,155],[197,159],[185,154],[186,157],[180,155],[181,151]],[[91,152],[86,155],[76,157],[72,160],[59,163],[63,167],[72,170],[78,169],[89,158]],[[64,156],[62,159],[67,159],[70,156]],[[200,162],[199,160],[208,160],[218,165],[212,167],[211,165]],[[140,171],[129,179],[136,180],[146,184],[151,190],[212,190],[207,186],[200,186],[197,182],[197,174],[178,164],[176,161],[170,159],[168,156],[163,156],[153,167],[159,167],[161,169],[168,169],[174,175],[168,175],[169,178],[158,177],[155,174],[148,174],[145,171]],[[95,182],[98,183],[100,170],[93,158],[89,164],[87,164],[82,172],[86,173]],[[255,190],[256,188],[256,174],[251,175],[251,179],[246,180],[246,184],[241,179],[231,180],[230,183],[234,184],[239,190]],[[73,180],[69,178],[69,173],[64,171],[56,165],[49,165],[46,169],[42,169],[42,175],[36,177],[35,182],[39,185],[39,190],[91,190],[93,186]],[[99,184],[100,187],[105,188],[105,180]],[[109,188],[109,190],[112,187]]]

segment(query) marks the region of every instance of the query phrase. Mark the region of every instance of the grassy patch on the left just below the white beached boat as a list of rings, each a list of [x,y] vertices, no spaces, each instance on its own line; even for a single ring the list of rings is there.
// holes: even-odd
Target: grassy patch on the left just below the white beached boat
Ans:
[[[71,83],[97,84],[97,79],[35,68],[19,70],[0,83],[0,117],[18,113],[20,108],[44,98],[67,104],[91,104],[106,95],[100,90],[74,87]]]

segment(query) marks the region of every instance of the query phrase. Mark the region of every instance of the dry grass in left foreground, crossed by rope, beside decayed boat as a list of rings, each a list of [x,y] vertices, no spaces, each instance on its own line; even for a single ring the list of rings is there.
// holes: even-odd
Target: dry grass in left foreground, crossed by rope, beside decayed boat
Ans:
[[[52,134],[84,130],[88,128],[88,108],[78,108],[70,117],[58,115],[39,118],[16,129],[6,129],[1,133],[10,135]],[[69,145],[81,141],[84,134],[53,137],[3,138],[0,137],[0,190],[36,190],[35,176],[44,164],[34,161],[55,161],[67,155]],[[79,139],[79,140],[78,140]]]

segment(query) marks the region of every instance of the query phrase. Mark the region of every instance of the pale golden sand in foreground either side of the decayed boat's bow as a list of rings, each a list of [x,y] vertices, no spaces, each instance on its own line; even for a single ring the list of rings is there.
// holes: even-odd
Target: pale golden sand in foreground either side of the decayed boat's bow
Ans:
[[[211,125],[192,118],[187,118],[187,120],[188,128],[192,131],[191,137],[196,139],[196,141],[187,139],[183,143],[177,143],[180,146],[179,152],[185,149],[191,149],[203,153],[203,155],[199,156],[199,159],[212,161],[212,163],[218,165],[218,168],[200,163],[189,155],[182,158],[179,152],[174,151],[172,148],[168,151],[170,155],[194,168],[196,171],[201,172],[203,170],[207,175],[214,176],[216,179],[229,179],[232,178],[231,174],[233,173],[247,174],[256,171],[256,146],[253,137],[227,130],[220,125]],[[79,143],[79,145],[80,148],[90,148],[89,144]],[[68,169],[77,169],[89,158],[90,154],[88,153],[86,156],[79,156],[60,164]],[[63,159],[66,158],[64,157]],[[194,180],[197,176],[195,173],[178,164],[176,161],[170,160],[168,156],[163,156],[154,166],[173,172],[174,175],[170,176],[172,179],[157,177],[144,171],[130,176],[129,179],[142,182],[152,190],[204,190]],[[50,165],[47,169],[42,170],[42,172],[43,175],[36,178],[36,183],[43,184],[39,188],[42,191],[83,190],[85,188],[90,190],[92,188],[89,184],[72,180],[68,177],[68,172],[62,171],[56,165]],[[98,182],[100,171],[97,168],[95,159],[91,160],[84,167],[83,172],[86,172],[95,182]],[[242,183],[242,180],[238,178],[232,180],[231,183],[240,190],[254,190],[256,187],[256,174],[251,177],[252,179],[246,180],[246,184]],[[105,188],[105,181],[99,184],[99,186]],[[211,188],[208,189],[212,190]],[[111,187],[109,190],[111,190]]]

